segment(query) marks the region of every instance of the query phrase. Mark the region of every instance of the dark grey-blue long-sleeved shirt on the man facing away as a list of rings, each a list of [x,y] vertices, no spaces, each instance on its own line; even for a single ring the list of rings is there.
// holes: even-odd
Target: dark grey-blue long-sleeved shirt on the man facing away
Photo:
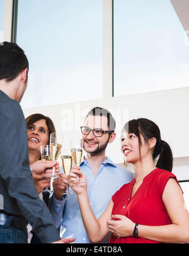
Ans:
[[[28,136],[20,104],[0,90],[0,210],[25,217],[42,243],[60,240],[31,177]]]

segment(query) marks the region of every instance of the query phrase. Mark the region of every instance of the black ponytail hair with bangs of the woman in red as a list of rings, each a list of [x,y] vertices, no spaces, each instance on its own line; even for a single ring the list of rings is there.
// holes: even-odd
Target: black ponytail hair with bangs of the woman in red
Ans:
[[[173,154],[171,148],[166,141],[161,139],[161,133],[159,127],[149,119],[133,119],[127,122],[123,131],[134,133],[139,139],[139,153],[140,153],[140,134],[144,137],[144,141],[147,143],[152,137],[156,138],[156,146],[154,147],[152,158],[155,160],[159,156],[156,167],[164,170],[172,171],[173,168]]]

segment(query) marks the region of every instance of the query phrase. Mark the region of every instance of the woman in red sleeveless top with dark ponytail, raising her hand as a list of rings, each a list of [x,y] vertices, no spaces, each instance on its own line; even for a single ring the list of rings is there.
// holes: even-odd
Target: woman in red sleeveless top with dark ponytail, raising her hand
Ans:
[[[98,220],[89,204],[86,177],[78,167],[70,173],[89,239],[97,243],[111,232],[110,243],[189,243],[189,214],[171,173],[171,148],[161,140],[159,128],[148,119],[131,120],[123,127],[121,141],[135,178],[112,196]],[[77,174],[84,181],[79,186],[73,183]]]

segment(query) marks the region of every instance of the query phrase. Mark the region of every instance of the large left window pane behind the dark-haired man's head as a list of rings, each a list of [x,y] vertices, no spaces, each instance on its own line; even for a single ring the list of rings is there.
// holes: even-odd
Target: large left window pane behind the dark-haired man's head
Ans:
[[[16,42],[30,62],[23,108],[102,97],[103,0],[19,0]]]

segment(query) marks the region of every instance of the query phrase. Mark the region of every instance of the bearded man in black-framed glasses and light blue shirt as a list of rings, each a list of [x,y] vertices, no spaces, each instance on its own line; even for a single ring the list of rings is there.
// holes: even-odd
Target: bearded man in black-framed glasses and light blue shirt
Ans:
[[[89,111],[81,126],[82,145],[86,154],[81,161],[80,170],[86,175],[88,197],[96,216],[105,211],[112,195],[124,183],[134,178],[134,173],[121,168],[106,157],[106,147],[115,139],[115,120],[105,108],[96,107]],[[50,198],[50,210],[56,226],[60,225],[60,237],[76,238],[76,243],[91,243],[81,218],[77,195],[73,192],[62,199],[67,178],[54,185],[54,195]],[[71,188],[69,188],[71,190]],[[108,243],[109,238],[101,241]]]

